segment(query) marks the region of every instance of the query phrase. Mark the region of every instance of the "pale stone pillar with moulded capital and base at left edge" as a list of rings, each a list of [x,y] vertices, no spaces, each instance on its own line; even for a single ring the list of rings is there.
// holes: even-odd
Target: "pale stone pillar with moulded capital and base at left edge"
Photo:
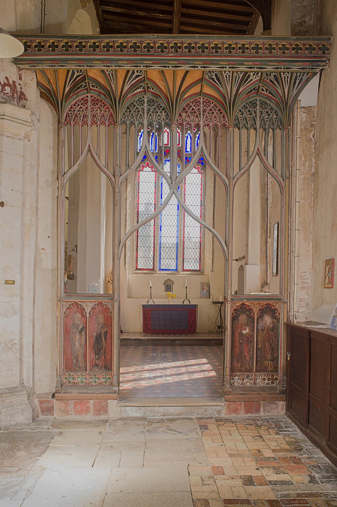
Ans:
[[[25,155],[30,131],[30,110],[0,103],[0,201],[4,202],[4,207],[0,208],[1,428],[30,422],[35,416],[30,402],[32,363],[27,354],[27,349],[32,351],[32,336],[26,333],[23,318],[26,310],[23,307],[23,271],[27,261],[24,241],[29,241],[24,206],[27,185]],[[5,280],[13,280],[14,283],[7,284]],[[30,290],[31,303],[32,295],[33,287]],[[31,320],[32,311],[31,306]],[[23,339],[24,336],[29,336],[29,343]]]

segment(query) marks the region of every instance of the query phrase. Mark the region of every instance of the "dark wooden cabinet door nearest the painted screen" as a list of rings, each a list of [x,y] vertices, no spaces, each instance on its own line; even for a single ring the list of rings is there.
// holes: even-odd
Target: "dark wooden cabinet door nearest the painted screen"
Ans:
[[[309,332],[288,327],[290,360],[287,360],[287,407],[290,415],[305,428],[308,426]]]

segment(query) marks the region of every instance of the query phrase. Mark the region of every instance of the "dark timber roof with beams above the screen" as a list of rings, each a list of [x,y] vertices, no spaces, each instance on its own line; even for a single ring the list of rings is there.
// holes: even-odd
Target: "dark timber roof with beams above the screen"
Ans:
[[[266,25],[265,11],[270,0],[94,0],[94,3],[101,34],[247,35],[254,32],[259,15]]]

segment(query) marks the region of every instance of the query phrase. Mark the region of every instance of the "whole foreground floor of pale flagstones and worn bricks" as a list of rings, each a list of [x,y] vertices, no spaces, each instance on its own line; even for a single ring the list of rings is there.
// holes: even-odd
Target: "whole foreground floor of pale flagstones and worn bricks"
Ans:
[[[0,456],[0,507],[337,507],[336,468],[282,416],[41,418]]]

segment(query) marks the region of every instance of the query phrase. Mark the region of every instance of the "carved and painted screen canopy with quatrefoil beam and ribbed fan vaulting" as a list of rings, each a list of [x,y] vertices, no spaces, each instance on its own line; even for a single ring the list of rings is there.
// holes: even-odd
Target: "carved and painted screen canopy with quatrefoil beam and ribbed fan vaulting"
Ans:
[[[277,106],[287,126],[296,98],[327,67],[331,54],[329,37],[21,35],[20,40],[25,52],[15,62],[37,70],[60,122],[79,95],[101,97],[119,123],[128,101],[149,94],[165,103],[171,122],[184,102],[202,95],[223,108],[229,125],[247,99],[260,97]]]

